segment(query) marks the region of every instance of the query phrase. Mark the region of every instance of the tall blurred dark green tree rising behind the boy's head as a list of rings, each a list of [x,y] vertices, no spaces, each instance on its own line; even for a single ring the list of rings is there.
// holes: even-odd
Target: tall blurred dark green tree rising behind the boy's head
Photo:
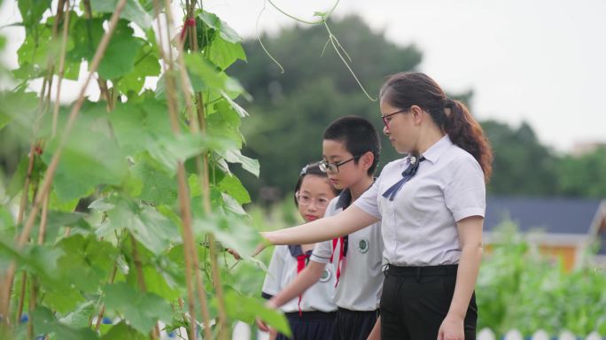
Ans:
[[[422,54],[414,45],[388,42],[358,17],[331,22],[330,30],[352,57],[351,65],[371,96],[377,97],[385,76],[413,70],[421,62]],[[378,103],[362,94],[336,52],[327,48],[321,56],[327,41],[324,27],[291,27],[261,39],[285,73],[256,39],[244,43],[247,64],[232,68],[254,98],[248,105],[251,118],[242,129],[245,153],[262,159],[259,180],[245,174],[241,178],[253,196],[259,196],[262,187],[278,188],[281,196],[291,189],[301,166],[322,158],[322,133],[331,121],[358,115],[372,121],[379,133],[383,123]],[[384,145],[381,163],[395,157],[392,148]]]

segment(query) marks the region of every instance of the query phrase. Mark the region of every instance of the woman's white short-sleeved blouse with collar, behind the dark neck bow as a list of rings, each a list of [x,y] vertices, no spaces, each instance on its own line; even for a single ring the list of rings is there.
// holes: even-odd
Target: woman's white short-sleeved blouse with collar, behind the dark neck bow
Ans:
[[[400,181],[409,157],[387,164],[375,184],[354,202],[381,220],[384,257],[395,266],[459,263],[456,222],[484,217],[486,211],[484,173],[469,152],[445,135],[423,157],[415,176],[393,201],[382,195]]]

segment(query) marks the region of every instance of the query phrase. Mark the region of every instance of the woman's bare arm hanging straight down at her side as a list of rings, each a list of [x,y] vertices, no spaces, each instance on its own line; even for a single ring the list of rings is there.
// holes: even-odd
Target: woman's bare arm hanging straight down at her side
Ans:
[[[471,216],[456,223],[461,244],[461,259],[456,274],[455,295],[447,317],[439,328],[438,339],[464,340],[463,321],[476,287],[480,260],[482,259],[482,225],[484,219]]]

